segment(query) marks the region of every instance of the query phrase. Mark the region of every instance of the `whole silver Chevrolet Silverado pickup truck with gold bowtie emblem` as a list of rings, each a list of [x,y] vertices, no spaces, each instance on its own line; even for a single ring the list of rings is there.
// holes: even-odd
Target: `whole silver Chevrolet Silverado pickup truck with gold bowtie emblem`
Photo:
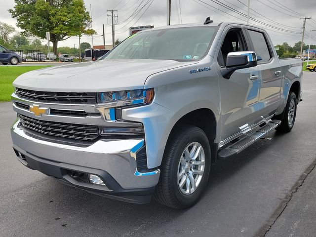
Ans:
[[[217,158],[293,128],[301,79],[301,60],[279,60],[258,27],[207,19],[150,29],[101,60],[18,77],[13,149],[88,192],[186,208]]]

